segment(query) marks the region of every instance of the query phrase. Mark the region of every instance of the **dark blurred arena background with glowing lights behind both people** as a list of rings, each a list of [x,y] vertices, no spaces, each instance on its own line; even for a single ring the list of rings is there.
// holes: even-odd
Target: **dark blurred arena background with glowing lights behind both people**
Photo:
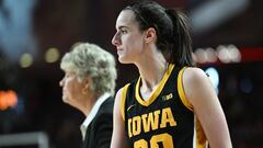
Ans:
[[[263,1],[156,1],[191,18],[194,57],[218,92],[233,147],[262,148]],[[60,58],[91,42],[117,59],[111,39],[128,2],[0,0],[0,136],[41,133],[50,148],[80,146],[84,115],[61,101]],[[138,76],[130,65],[117,68],[116,89]]]

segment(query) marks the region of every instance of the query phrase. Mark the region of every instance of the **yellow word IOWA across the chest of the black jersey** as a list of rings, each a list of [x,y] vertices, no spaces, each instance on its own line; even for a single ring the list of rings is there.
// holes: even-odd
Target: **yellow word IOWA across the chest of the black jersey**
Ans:
[[[148,133],[168,126],[176,126],[170,107],[128,118],[128,136],[133,137],[139,135],[141,132]]]

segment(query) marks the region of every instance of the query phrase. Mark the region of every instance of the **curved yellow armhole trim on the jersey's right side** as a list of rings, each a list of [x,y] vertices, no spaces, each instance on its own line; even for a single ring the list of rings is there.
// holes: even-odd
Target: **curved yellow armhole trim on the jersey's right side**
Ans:
[[[183,89],[183,72],[186,69],[186,67],[182,68],[179,71],[179,76],[178,76],[178,91],[179,91],[179,96],[181,99],[181,101],[183,102],[183,104],[191,111],[193,111],[193,106],[192,104],[188,102],[184,89]]]

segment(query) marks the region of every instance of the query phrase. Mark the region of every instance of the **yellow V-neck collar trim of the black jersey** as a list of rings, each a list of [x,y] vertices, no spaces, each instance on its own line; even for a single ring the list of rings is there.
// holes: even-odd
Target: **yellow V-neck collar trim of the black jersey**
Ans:
[[[150,98],[147,101],[141,99],[140,95],[139,95],[139,88],[140,88],[140,77],[139,77],[139,79],[136,83],[135,96],[141,105],[149,106],[157,99],[157,96],[160,94],[162,88],[164,87],[169,76],[171,75],[173,68],[174,68],[174,65],[170,64],[169,67],[168,67],[168,70],[165,71],[165,73],[164,73],[164,76],[161,80],[161,82],[159,83],[157,90],[150,95]]]

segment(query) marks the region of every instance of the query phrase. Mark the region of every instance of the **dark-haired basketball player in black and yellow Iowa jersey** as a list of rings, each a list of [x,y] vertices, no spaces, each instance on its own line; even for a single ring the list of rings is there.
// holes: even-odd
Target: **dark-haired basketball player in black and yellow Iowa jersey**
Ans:
[[[155,1],[126,7],[112,44],[119,62],[140,75],[116,94],[112,148],[232,147],[217,94],[193,61],[181,11]]]

